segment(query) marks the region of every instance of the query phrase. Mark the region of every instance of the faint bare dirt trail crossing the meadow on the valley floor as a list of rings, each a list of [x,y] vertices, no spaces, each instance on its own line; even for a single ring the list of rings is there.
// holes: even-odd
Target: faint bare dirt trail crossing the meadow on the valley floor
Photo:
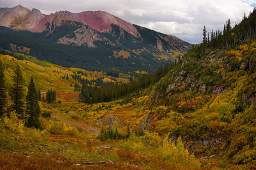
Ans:
[[[55,120],[64,122],[66,125],[71,125],[71,126],[76,127],[77,130],[80,132],[86,131],[90,134],[96,134],[96,135],[100,134],[100,131],[97,128],[92,127],[88,124],[81,123],[81,122],[75,122],[73,120],[68,120],[67,118],[64,118],[64,117],[58,117],[58,115],[56,115],[56,113],[52,113],[51,117],[54,118]]]

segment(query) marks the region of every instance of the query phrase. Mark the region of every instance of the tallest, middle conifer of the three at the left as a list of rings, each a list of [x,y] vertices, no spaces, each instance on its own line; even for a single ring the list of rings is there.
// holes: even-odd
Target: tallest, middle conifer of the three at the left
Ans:
[[[12,87],[10,88],[10,96],[13,100],[13,105],[11,106],[12,110],[15,110],[15,112],[17,114],[20,115],[20,118],[23,118],[23,105],[24,105],[24,81],[22,78],[22,72],[21,69],[19,67],[19,65],[17,65],[15,71],[14,71],[15,75],[12,77]]]

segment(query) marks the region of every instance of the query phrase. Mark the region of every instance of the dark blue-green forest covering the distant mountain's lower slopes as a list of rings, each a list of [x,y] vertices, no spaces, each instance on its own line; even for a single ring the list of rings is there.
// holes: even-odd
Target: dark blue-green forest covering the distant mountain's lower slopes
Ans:
[[[104,41],[94,41],[96,47],[90,48],[87,45],[77,46],[56,43],[57,39],[66,34],[72,35],[72,31],[78,27],[81,27],[81,24],[63,25],[56,27],[51,34],[48,34],[48,32],[34,33],[29,31],[13,31],[7,27],[0,27],[0,48],[12,50],[10,46],[11,43],[17,46],[26,46],[26,48],[30,49],[28,54],[37,59],[47,60],[65,67],[79,67],[91,71],[104,71],[110,75],[115,74],[113,68],[115,68],[118,73],[128,73],[138,69],[152,72],[155,71],[157,66],[166,62],[166,60],[157,60],[157,57],[154,56],[153,53],[159,52],[150,44],[140,43],[132,46],[133,39],[127,32],[125,32],[124,39],[120,39],[124,45],[120,43],[114,45]],[[113,31],[117,31],[115,27]],[[102,37],[112,39],[114,42],[118,40],[117,35],[116,37],[111,37],[106,33],[98,32],[98,34]],[[120,34],[120,32],[113,32],[113,34]],[[152,39],[152,41],[155,42],[156,38]],[[141,52],[140,55],[132,50],[135,47],[135,50],[138,47],[143,49],[142,46],[146,46],[147,50]],[[164,45],[164,48],[167,48],[167,46]],[[173,48],[178,49],[180,47],[177,46]],[[129,52],[129,57],[111,57],[113,56],[113,52],[120,52],[120,50]],[[52,57],[52,55],[54,57]]]

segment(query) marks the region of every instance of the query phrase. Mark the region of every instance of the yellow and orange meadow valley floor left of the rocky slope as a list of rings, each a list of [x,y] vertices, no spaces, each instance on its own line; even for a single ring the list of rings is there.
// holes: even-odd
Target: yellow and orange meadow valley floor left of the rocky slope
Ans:
[[[138,96],[138,99],[134,98],[129,103],[123,99],[110,103],[79,103],[79,92],[74,92],[74,84],[80,85],[76,79],[77,75],[92,82],[95,78],[104,75],[82,69],[68,69],[20,53],[5,50],[1,53],[10,53],[15,57],[0,55],[4,66],[6,90],[10,89],[12,82],[10,76],[15,66],[19,64],[26,91],[29,79],[33,76],[36,89],[41,90],[43,98],[47,98],[45,92],[49,89],[56,90],[57,95],[56,103],[47,103],[44,100],[39,102],[40,130],[25,127],[13,112],[10,113],[10,118],[7,118],[7,115],[1,117],[0,169],[33,169],[35,167],[36,169],[45,167],[47,169],[64,167],[66,169],[143,169],[148,167],[177,169],[200,165],[193,155],[189,155],[188,150],[184,150],[181,142],[179,146],[174,144],[162,146],[159,145],[161,138],[157,134],[143,132],[141,125],[144,124],[145,113],[149,110],[141,108],[141,102],[147,96]],[[87,73],[86,77],[84,72]],[[72,76],[74,74],[76,76]],[[106,77],[106,79],[127,81],[120,78]],[[12,101],[8,97],[8,106],[10,104]],[[131,137],[129,137],[128,126],[131,128]],[[99,139],[103,138],[100,137],[103,135],[100,132],[101,129],[108,129],[108,127],[118,129],[113,136],[118,134],[120,139]],[[138,143],[138,141],[141,142]],[[145,143],[148,143],[147,146]],[[166,149],[171,154],[176,154],[172,162],[165,162],[170,156]],[[152,155],[156,152],[157,155]],[[177,154],[180,156],[178,157]],[[162,163],[159,164],[159,162]]]

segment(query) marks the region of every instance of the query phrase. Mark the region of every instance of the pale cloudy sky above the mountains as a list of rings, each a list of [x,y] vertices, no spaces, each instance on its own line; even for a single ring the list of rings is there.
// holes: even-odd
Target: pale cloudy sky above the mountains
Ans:
[[[132,24],[164,34],[172,34],[189,43],[202,42],[202,29],[223,29],[226,20],[240,22],[253,10],[256,0],[0,0],[0,7],[21,4],[42,13],[107,11]]]

